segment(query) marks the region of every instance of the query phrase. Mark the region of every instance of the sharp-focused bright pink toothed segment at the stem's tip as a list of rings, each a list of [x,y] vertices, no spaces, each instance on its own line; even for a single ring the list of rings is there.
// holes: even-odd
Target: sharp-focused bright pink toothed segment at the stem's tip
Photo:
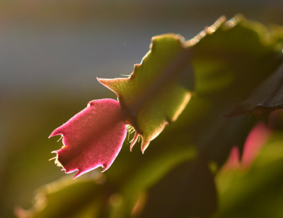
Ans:
[[[100,99],[71,117],[50,137],[61,134],[64,146],[52,151],[66,173],[76,172],[74,178],[99,166],[106,171],[115,160],[125,140],[127,129],[120,103]]]

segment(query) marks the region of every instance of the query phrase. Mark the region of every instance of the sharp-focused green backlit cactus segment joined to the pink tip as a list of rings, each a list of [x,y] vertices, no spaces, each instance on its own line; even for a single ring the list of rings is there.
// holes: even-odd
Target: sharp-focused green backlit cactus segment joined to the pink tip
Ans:
[[[129,78],[98,79],[117,94],[129,113],[129,124],[141,135],[143,152],[190,101],[190,92],[178,85],[180,74],[190,64],[189,54],[179,35],[156,36]]]

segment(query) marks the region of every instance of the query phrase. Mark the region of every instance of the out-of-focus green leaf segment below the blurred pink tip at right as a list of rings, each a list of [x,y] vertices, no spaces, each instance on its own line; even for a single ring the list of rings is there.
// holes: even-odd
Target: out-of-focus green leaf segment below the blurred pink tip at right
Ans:
[[[215,217],[282,217],[282,145],[282,132],[275,131],[250,168],[218,173]]]

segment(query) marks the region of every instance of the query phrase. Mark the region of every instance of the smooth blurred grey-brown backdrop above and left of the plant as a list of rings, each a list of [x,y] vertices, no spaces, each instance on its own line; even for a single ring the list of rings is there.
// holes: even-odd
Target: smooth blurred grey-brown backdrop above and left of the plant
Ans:
[[[131,74],[151,37],[197,35],[219,16],[283,25],[283,1],[0,1],[0,217],[31,207],[35,190],[64,176],[47,140],[95,98],[96,77]]]

